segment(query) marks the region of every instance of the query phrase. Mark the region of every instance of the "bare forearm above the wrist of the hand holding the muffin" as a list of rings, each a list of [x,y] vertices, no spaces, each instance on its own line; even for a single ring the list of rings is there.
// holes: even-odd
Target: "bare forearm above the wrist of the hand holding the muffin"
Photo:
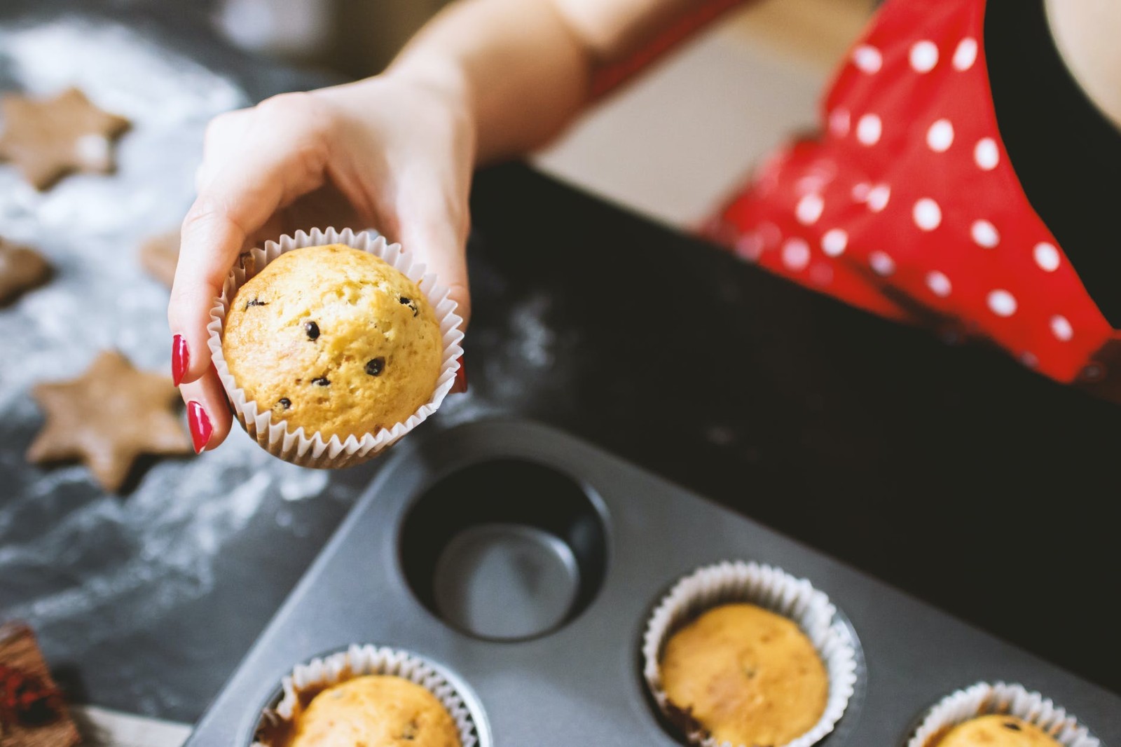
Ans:
[[[460,0],[390,66],[458,96],[478,160],[531,150],[592,98],[593,76],[641,49],[683,13],[730,0]]]

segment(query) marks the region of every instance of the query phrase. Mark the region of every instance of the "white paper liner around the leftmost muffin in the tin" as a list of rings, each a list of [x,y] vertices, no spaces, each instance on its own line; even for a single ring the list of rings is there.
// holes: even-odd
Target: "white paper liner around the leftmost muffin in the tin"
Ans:
[[[297,665],[280,681],[284,691],[280,702],[261,713],[259,726],[276,727],[290,721],[299,692],[328,688],[367,674],[393,675],[420,685],[435,695],[451,714],[462,747],[489,747],[485,726],[476,722],[464,694],[435,664],[407,651],[371,644],[354,644],[346,651]],[[274,746],[253,741],[252,747]]]

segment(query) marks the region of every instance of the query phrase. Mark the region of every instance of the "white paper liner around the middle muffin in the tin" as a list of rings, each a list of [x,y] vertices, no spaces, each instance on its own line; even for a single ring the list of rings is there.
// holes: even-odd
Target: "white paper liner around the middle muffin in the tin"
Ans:
[[[770,565],[742,561],[707,565],[678,581],[658,603],[642,636],[642,676],[658,707],[679,722],[661,689],[659,660],[666,642],[704,610],[734,602],[756,605],[794,620],[817,649],[830,677],[825,710],[809,731],[775,747],[809,747],[819,741],[841,720],[855,689],[855,642],[824,592]],[[685,729],[685,736],[702,747],[742,747],[717,743],[700,729]]]

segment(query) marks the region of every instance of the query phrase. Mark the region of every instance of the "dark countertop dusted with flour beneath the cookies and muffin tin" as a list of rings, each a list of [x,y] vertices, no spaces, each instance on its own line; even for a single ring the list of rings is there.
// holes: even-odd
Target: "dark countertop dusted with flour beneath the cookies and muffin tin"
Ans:
[[[11,21],[26,19],[22,7],[6,3],[0,34],[28,28]],[[197,61],[213,74],[203,83],[193,72],[185,92],[222,84],[252,101],[313,80],[231,52],[167,11],[90,7],[77,25],[84,35],[105,17],[127,18],[163,49],[138,55]],[[0,87],[19,86],[24,73],[4,59],[0,50]],[[53,75],[37,84],[65,71]],[[110,99],[130,91],[104,85]],[[235,434],[213,454],[139,471],[120,497],[101,494],[81,468],[24,464],[41,422],[26,398],[34,380],[78,370],[105,344],[166,365],[166,329],[147,321],[90,340],[82,330],[27,332],[30,315],[46,313],[43,298],[90,293],[101,304],[91,314],[104,306],[119,319],[115,295],[87,288],[140,284],[139,270],[126,259],[114,266],[131,275],[106,274],[91,252],[131,251],[185,210],[182,175],[197,160],[205,117],[146,123],[142,113],[122,149],[152,147],[145,132],[163,127],[161,157],[182,174],[160,204],[130,203],[127,220],[96,223],[92,246],[59,231],[58,211],[67,200],[127,196],[146,175],[130,166],[137,159],[113,179],[59,185],[43,202],[0,200],[0,232],[47,229],[45,250],[66,270],[38,292],[54,295],[0,311],[9,341],[0,347],[0,483],[9,486],[0,491],[0,617],[36,626],[80,699],[193,720],[377,463],[300,471]],[[0,166],[0,194],[8,172]],[[472,211],[471,393],[411,437],[491,415],[550,423],[1121,692],[1110,615],[1117,407],[994,351],[946,347],[797,288],[525,166],[481,173]],[[130,298],[146,314],[166,304],[154,284]]]

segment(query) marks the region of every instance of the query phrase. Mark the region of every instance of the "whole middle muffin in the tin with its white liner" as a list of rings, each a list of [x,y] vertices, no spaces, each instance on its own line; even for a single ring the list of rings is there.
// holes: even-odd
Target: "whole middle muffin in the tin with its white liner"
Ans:
[[[643,677],[666,718],[704,747],[808,747],[856,681],[855,642],[808,581],[721,563],[679,581],[650,617]]]

